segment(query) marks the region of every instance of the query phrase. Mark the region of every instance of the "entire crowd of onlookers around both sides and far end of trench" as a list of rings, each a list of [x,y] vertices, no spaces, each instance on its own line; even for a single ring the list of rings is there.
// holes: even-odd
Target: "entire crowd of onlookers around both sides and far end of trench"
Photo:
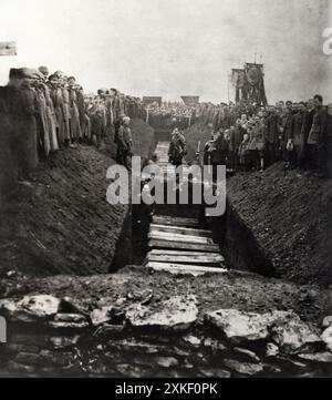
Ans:
[[[100,146],[111,130],[115,132],[117,162],[129,168],[131,117],[145,119],[146,113],[160,119],[165,127],[167,119],[170,126],[180,130],[197,122],[210,126],[214,132],[204,150],[205,164],[263,171],[284,160],[289,168],[317,170],[330,176],[332,105],[324,106],[320,95],[308,102],[281,101],[266,107],[249,101],[144,106],[141,99],[116,89],[85,94],[74,76],[61,71],[50,74],[45,66],[12,69],[8,85],[0,88],[1,132],[11,137],[11,153],[19,160],[21,175],[61,148],[81,143]],[[178,157],[174,158],[178,164]]]

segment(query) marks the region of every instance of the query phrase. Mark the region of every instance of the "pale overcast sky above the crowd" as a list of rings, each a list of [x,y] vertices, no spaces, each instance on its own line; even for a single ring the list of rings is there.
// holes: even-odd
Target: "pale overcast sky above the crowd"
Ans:
[[[270,103],[317,92],[330,102],[332,55],[323,54],[322,32],[331,3],[0,0],[0,41],[17,41],[19,51],[0,58],[0,84],[10,66],[45,64],[76,75],[87,92],[114,86],[137,96],[197,94],[220,102],[227,101],[227,73],[257,52]]]

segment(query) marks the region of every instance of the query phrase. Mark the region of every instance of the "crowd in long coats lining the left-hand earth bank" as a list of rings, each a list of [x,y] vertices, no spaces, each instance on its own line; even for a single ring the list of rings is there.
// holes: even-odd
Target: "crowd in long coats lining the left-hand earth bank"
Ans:
[[[1,135],[9,137],[19,178],[29,177],[40,160],[61,148],[100,146],[107,127],[117,126],[118,147],[127,147],[129,142],[122,140],[127,130],[121,126],[142,113],[137,98],[116,89],[86,95],[74,76],[50,74],[46,66],[11,69],[9,83],[0,86]],[[121,150],[118,154],[125,163]]]

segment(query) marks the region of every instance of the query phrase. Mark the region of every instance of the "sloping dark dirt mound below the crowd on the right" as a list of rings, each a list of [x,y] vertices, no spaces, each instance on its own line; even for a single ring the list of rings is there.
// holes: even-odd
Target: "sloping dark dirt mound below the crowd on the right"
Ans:
[[[232,211],[252,232],[277,274],[300,284],[332,285],[332,181],[289,171],[283,163],[263,174],[228,182]]]

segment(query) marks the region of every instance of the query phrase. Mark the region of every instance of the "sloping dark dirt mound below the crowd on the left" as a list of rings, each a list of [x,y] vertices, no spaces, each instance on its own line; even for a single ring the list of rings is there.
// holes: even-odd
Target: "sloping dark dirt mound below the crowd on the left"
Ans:
[[[92,146],[41,163],[1,209],[0,271],[33,275],[107,273],[126,206],[106,202],[111,157]]]

